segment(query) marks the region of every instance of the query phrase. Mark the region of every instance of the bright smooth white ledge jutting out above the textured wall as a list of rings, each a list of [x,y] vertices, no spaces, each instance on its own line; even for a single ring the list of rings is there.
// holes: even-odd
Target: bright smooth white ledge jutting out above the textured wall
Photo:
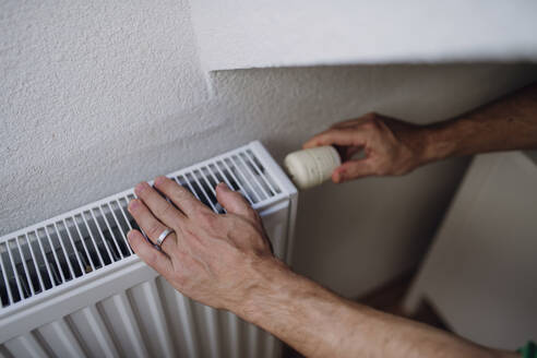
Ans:
[[[210,70],[537,61],[533,0],[195,0]]]

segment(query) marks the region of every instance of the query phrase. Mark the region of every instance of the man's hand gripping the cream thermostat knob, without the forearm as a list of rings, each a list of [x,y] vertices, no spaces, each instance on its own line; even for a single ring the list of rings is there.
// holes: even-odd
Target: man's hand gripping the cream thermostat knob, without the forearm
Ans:
[[[418,126],[378,114],[339,122],[303,145],[334,145],[343,164],[332,174],[334,182],[368,176],[399,176],[425,163],[425,142]],[[363,151],[365,157],[353,159]]]

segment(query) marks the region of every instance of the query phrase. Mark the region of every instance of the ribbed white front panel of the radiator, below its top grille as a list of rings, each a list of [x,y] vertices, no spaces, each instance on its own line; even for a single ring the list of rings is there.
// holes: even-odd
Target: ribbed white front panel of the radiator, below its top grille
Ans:
[[[153,306],[144,302],[160,295]],[[158,311],[170,314],[152,317]],[[230,312],[191,301],[162,277],[17,335],[3,346],[13,357],[263,358],[276,357],[281,349],[268,333]]]

